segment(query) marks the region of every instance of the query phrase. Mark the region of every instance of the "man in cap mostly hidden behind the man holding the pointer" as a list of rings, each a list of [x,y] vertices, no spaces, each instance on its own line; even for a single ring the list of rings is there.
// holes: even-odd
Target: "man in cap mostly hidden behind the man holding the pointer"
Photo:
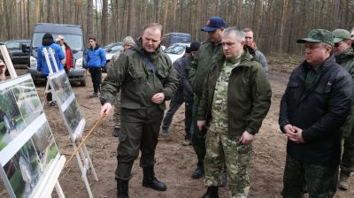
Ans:
[[[113,55],[112,57],[112,65],[117,62],[119,55],[126,50],[129,50],[135,44],[134,39],[131,36],[126,36],[123,39],[123,47],[119,51],[119,53]],[[113,122],[114,122],[114,129],[113,129],[113,136],[118,137],[120,132],[120,94],[117,94],[116,101],[114,102],[114,113],[113,113]]]

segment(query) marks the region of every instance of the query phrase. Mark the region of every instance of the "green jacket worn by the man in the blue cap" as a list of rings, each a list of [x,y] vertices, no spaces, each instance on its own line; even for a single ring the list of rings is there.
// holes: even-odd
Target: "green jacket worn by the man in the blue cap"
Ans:
[[[196,96],[199,98],[203,94],[205,76],[211,68],[212,60],[222,57],[222,55],[222,44],[218,43],[215,45],[208,40],[202,43],[196,57],[194,57],[189,71],[189,82]]]

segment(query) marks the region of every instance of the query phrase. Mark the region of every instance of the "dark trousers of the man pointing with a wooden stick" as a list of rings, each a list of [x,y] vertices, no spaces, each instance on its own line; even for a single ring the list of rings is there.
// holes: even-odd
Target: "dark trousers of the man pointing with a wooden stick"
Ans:
[[[120,109],[120,133],[117,148],[116,179],[131,179],[135,159],[142,152],[140,166],[155,164],[155,149],[158,145],[158,133],[164,110],[158,105],[145,110]]]

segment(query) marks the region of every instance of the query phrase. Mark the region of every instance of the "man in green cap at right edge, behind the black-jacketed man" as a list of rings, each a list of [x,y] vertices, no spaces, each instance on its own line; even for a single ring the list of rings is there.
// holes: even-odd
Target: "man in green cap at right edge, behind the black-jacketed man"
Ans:
[[[350,32],[345,29],[335,29],[332,33],[335,35],[335,48],[333,49],[335,62],[347,70],[351,78],[354,79],[354,51],[351,47]],[[338,187],[342,190],[349,189],[350,172],[354,171],[353,105],[352,102],[350,115],[348,115],[347,121],[341,128],[344,143]]]

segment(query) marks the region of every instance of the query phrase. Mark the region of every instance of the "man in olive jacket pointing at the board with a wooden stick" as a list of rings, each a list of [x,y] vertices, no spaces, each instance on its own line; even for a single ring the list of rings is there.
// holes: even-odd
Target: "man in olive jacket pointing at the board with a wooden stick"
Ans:
[[[117,155],[118,197],[128,197],[128,180],[139,149],[143,171],[142,186],[165,191],[164,183],[155,178],[155,149],[159,127],[164,117],[165,100],[177,89],[177,73],[169,57],[160,51],[162,26],[144,27],[142,38],[131,50],[123,52],[112,66],[102,85],[101,115],[109,114],[119,90],[120,134]]]

